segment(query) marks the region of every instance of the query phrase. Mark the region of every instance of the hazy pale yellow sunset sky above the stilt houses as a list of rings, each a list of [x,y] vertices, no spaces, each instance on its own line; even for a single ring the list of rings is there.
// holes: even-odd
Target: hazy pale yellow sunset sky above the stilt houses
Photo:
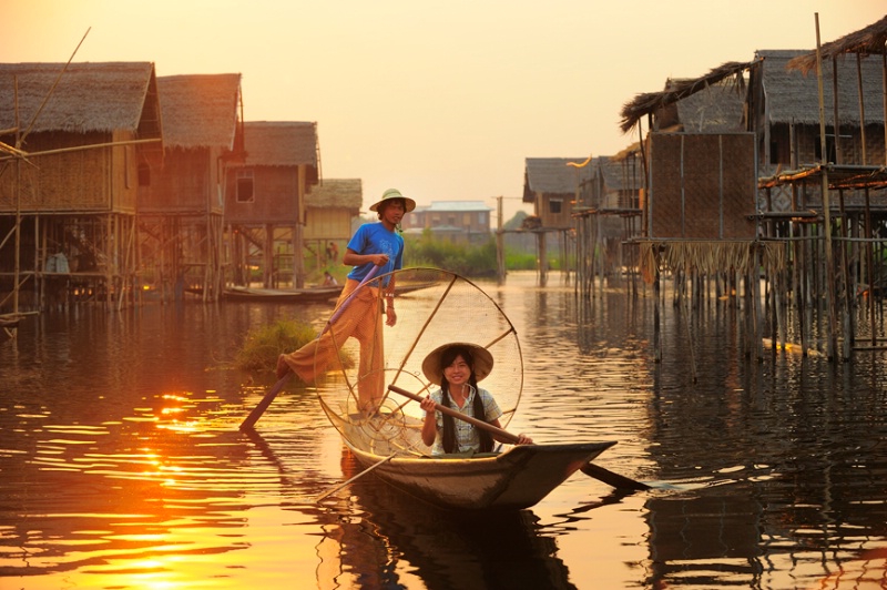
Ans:
[[[0,0],[3,62],[243,74],[247,121],[315,121],[323,175],[523,208],[527,157],[612,155],[622,105],[757,49],[814,49],[884,0]],[[524,208],[526,210],[526,208]]]

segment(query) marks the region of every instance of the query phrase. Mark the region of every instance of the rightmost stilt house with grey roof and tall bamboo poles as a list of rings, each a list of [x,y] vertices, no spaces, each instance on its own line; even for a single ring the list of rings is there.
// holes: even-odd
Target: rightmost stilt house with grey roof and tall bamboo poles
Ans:
[[[829,358],[885,348],[885,43],[887,17],[816,51],[761,51],[750,88],[768,232],[791,240],[798,262],[802,338],[813,337],[814,302],[826,301],[820,332]]]

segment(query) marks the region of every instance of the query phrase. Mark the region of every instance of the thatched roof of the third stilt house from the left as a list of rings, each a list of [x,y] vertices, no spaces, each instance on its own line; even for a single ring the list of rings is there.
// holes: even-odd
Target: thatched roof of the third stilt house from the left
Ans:
[[[317,123],[249,121],[244,123],[246,165],[317,169]]]

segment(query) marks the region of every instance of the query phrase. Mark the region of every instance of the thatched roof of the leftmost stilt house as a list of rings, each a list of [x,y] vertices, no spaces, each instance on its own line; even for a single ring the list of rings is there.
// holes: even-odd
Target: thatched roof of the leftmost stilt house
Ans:
[[[43,101],[32,132],[71,133],[139,131],[141,139],[160,136],[154,64],[108,63],[0,63],[0,129],[24,131]],[[59,81],[52,90],[55,81]],[[14,85],[18,83],[18,105]],[[144,124],[140,126],[140,123]]]

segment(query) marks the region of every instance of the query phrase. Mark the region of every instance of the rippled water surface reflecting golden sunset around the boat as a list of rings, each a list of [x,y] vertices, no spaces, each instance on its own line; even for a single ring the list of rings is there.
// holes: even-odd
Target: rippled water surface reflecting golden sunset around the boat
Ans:
[[[44,314],[0,342],[0,589],[887,587],[884,353],[748,363],[736,311],[669,307],[656,364],[650,296],[483,287],[523,347],[509,429],[618,440],[598,462],[652,491],[577,474],[466,518],[368,475],[317,502],[359,470],[314,391],[247,436],[274,379],[231,362],[249,327],[329,306]]]

